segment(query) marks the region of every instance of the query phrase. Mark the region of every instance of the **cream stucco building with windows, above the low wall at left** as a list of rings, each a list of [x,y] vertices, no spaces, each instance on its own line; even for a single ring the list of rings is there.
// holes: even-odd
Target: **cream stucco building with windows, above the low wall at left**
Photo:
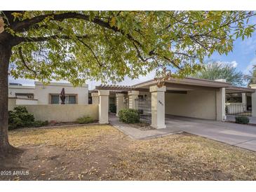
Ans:
[[[60,92],[65,88],[65,104],[88,104],[88,85],[74,87],[70,83],[43,83],[36,81],[34,86],[10,83],[9,99],[16,104],[60,104]]]

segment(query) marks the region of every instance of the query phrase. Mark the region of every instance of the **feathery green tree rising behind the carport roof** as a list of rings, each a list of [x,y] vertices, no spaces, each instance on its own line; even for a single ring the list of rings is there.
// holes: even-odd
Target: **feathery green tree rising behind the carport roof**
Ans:
[[[198,71],[197,74],[194,74],[193,77],[210,80],[224,78],[232,85],[244,85],[243,73],[236,71],[234,64],[227,62],[208,62],[205,64],[205,67],[203,67],[201,71]]]

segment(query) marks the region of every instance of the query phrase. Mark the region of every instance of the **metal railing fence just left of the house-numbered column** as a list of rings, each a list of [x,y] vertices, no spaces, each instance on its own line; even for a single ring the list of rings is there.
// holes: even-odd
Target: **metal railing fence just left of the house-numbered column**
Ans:
[[[137,99],[135,107],[140,113],[140,121],[151,123],[151,99]]]

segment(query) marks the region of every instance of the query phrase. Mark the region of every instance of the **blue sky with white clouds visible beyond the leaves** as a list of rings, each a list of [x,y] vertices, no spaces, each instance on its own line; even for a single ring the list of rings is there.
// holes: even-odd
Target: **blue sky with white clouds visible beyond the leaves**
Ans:
[[[256,19],[253,20],[253,24],[256,23]],[[210,58],[206,58],[206,60],[215,60],[221,61],[225,63],[234,64],[236,70],[242,71],[243,74],[248,74],[251,70],[253,65],[256,64],[256,32],[252,34],[252,37],[248,39],[236,39],[234,41],[234,48],[233,51],[230,52],[228,55],[220,55],[218,53],[213,53]],[[151,78],[154,78],[154,71],[147,74],[147,76],[140,76],[140,78],[131,80],[130,78],[125,78],[124,81],[119,83],[119,85],[133,85],[136,83],[141,83],[143,81],[147,81]],[[53,81],[55,82],[55,81]],[[67,81],[59,81],[59,82],[67,82]],[[21,83],[22,85],[34,85],[34,80],[29,79],[14,79],[13,77],[9,76],[9,83]],[[96,81],[87,81],[86,82],[89,86],[90,90],[95,88],[95,85],[100,85],[100,82]]]

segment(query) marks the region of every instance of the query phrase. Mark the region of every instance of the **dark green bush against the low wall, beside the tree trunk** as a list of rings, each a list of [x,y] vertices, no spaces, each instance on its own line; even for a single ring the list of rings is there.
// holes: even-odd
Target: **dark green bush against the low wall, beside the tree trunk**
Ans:
[[[48,121],[34,121],[34,115],[29,114],[26,107],[15,107],[8,111],[8,129],[13,130],[23,127],[41,127],[48,125]]]

